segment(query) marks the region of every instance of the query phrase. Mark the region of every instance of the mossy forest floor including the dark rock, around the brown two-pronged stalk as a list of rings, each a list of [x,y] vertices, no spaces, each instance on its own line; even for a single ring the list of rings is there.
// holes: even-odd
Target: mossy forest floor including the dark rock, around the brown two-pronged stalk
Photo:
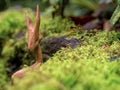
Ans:
[[[107,19],[41,16],[43,65],[11,86],[11,75],[34,63],[27,49],[26,9],[0,13],[0,89],[119,90],[119,24]],[[35,20],[34,13],[30,16]],[[21,18],[20,18],[21,17]],[[78,21],[86,21],[78,25]],[[77,20],[77,21],[76,21]]]

